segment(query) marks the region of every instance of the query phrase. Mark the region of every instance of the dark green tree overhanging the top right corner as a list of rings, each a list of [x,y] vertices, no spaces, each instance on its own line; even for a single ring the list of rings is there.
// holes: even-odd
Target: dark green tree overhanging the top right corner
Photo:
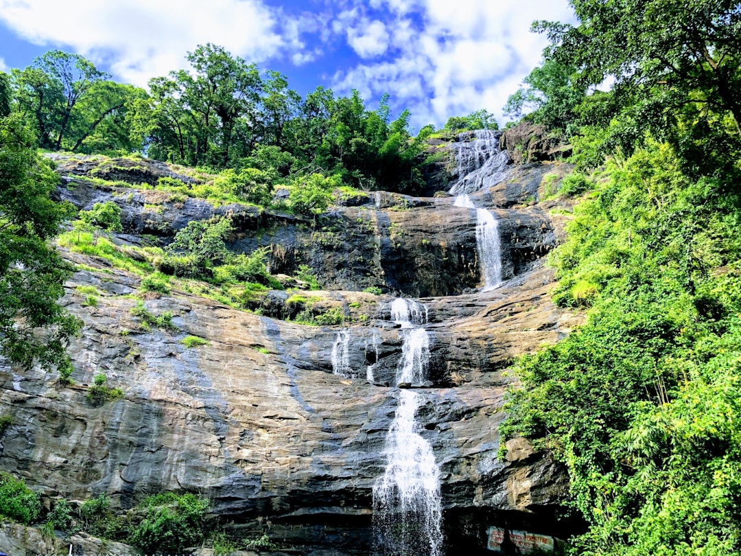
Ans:
[[[546,59],[576,67],[578,87],[614,79],[609,95],[596,96],[583,108],[586,122],[614,129],[605,145],[630,150],[645,130],[680,145],[686,129],[681,130],[679,122],[737,138],[741,124],[737,1],[571,0],[571,5],[579,24],[536,21],[534,30],[547,33],[551,40]]]

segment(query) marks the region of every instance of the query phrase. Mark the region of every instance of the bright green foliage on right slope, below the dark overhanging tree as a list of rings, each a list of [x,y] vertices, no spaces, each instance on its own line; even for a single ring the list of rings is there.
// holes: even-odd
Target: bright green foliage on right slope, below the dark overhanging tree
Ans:
[[[736,553],[741,200],[650,140],[607,172],[552,258],[588,320],[519,360],[502,432],[568,467],[572,554]]]

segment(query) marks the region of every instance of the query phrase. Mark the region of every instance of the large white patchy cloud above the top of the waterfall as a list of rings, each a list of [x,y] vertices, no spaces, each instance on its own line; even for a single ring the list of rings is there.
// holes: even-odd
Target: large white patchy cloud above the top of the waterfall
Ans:
[[[573,19],[566,0],[531,7],[524,10],[515,0],[353,0],[342,13],[348,42],[353,28],[362,30],[373,13],[383,12],[388,52],[382,62],[339,70],[333,87],[356,88],[364,96],[389,92],[392,102],[412,110],[416,127],[442,125],[480,108],[501,121],[508,96],[539,63],[546,44],[530,33],[533,19]]]

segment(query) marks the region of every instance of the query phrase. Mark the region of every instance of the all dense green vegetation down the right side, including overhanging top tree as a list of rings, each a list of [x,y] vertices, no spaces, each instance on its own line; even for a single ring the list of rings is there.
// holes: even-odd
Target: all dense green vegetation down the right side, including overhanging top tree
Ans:
[[[516,364],[503,432],[568,468],[574,555],[741,550],[741,10],[572,1],[510,99],[585,173],[554,300],[570,337]],[[607,76],[607,93],[593,90]],[[545,81],[544,81],[545,79]]]

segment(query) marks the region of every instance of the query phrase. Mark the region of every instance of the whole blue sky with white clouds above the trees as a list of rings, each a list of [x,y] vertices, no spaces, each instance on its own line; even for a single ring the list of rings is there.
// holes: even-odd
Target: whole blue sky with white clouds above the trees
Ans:
[[[59,48],[146,87],[211,42],[302,95],[354,88],[372,109],[388,93],[415,129],[482,108],[501,124],[541,61],[535,19],[574,14],[567,0],[0,0],[0,70]]]

